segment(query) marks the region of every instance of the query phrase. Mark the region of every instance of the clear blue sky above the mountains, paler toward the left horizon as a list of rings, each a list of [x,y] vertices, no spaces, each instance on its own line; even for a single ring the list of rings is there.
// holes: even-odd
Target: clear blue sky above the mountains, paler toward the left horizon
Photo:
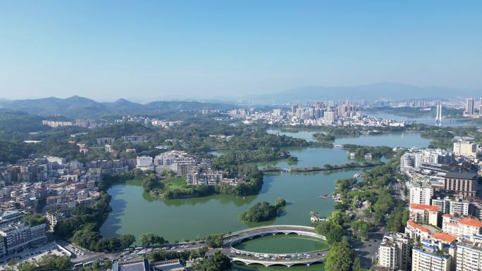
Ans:
[[[0,1],[0,98],[482,89],[482,1]]]

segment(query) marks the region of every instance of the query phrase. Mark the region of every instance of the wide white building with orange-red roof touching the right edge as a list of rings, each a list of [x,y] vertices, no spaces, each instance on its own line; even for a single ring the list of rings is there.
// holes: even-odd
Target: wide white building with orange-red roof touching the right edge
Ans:
[[[482,221],[473,218],[455,218],[453,215],[442,215],[442,231],[456,237],[470,238],[474,234],[481,234]]]

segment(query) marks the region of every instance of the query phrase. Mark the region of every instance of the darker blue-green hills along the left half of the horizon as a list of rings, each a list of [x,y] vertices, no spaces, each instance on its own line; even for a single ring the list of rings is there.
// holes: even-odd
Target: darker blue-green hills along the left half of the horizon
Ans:
[[[202,101],[153,101],[141,104],[125,99],[114,102],[97,102],[80,96],[66,99],[56,97],[25,100],[0,100],[0,108],[23,111],[36,115],[64,115],[70,118],[98,117],[111,114],[163,114],[174,111],[226,110],[235,108],[230,103]]]

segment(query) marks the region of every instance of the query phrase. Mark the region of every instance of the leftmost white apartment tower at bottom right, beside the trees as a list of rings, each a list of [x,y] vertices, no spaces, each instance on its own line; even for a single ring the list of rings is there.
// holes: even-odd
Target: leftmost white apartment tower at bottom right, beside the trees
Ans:
[[[378,265],[388,270],[407,270],[409,264],[409,237],[397,232],[385,235],[378,248]]]

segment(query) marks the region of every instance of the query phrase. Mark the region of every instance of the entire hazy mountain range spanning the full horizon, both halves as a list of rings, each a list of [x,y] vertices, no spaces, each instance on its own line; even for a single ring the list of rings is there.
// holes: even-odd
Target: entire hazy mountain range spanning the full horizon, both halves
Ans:
[[[299,87],[274,94],[246,96],[243,100],[251,105],[269,105],[325,100],[374,101],[389,99],[401,101],[407,99],[453,99],[457,97],[479,98],[480,96],[482,96],[482,92],[476,90],[416,87],[411,84],[382,82],[347,87]],[[126,99],[118,99],[114,102],[98,102],[80,96],[72,96],[66,99],[56,97],[25,100],[0,99],[0,109],[23,111],[36,115],[63,115],[70,118],[87,118],[112,114],[161,115],[163,113],[199,111],[202,109],[223,111],[242,106],[240,103],[220,101],[220,99],[221,97],[218,97],[216,101],[152,101],[145,104],[134,103]]]

